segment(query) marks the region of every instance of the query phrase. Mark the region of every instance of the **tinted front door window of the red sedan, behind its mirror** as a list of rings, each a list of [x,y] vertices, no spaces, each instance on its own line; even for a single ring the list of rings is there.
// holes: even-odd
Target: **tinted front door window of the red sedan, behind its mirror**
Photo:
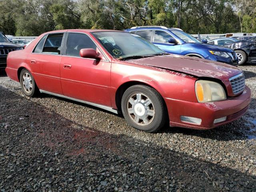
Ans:
[[[91,38],[82,33],[69,33],[66,55],[80,57],[80,50],[86,48],[92,48],[96,50],[96,44],[91,40]]]

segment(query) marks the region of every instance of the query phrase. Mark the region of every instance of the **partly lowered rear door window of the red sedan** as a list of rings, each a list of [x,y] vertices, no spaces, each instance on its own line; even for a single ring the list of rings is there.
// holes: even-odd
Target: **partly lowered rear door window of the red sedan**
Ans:
[[[62,38],[63,33],[49,34],[44,44],[42,53],[59,55]]]

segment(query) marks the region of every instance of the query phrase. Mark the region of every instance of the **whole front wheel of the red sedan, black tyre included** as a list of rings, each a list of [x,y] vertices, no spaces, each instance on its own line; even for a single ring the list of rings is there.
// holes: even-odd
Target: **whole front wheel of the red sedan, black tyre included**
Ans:
[[[145,85],[129,87],[122,96],[121,108],[128,124],[145,132],[160,130],[168,119],[162,97]]]

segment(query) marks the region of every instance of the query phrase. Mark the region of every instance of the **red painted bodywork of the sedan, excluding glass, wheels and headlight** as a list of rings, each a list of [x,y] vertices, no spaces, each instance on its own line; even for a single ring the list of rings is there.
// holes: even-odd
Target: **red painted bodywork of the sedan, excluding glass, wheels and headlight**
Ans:
[[[42,34],[26,49],[9,53],[6,68],[8,77],[19,82],[18,69],[26,68],[32,73],[39,89],[110,106],[114,109],[117,109],[116,92],[120,86],[128,82],[147,84],[164,98],[171,126],[195,129],[210,129],[233,121],[236,118],[217,125],[213,124],[214,119],[238,113],[250,103],[251,92],[247,86],[238,96],[232,93],[228,79],[242,72],[236,67],[178,55],[120,61],[113,58],[90,33],[112,30],[55,32],[68,31],[88,34],[100,48],[96,50],[99,60],[34,54],[32,50],[44,36]],[[195,82],[200,78],[222,82],[228,93],[227,100],[198,103]],[[193,125],[181,122],[181,115],[201,118],[202,124]]]

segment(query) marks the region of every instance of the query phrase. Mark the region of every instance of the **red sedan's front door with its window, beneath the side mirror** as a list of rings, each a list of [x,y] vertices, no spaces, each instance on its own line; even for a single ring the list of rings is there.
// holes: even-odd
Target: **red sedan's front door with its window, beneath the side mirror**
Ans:
[[[80,50],[93,48],[102,54],[93,40],[83,33],[68,33],[66,51],[60,61],[60,80],[67,97],[111,106],[111,62],[102,55],[101,60],[81,58]]]

